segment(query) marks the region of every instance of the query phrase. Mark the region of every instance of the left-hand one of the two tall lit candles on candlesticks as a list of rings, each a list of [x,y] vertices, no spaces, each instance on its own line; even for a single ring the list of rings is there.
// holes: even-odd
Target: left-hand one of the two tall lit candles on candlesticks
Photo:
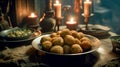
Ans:
[[[55,7],[55,16],[57,18],[61,18],[61,4],[59,3],[58,0],[55,1],[54,7]]]

